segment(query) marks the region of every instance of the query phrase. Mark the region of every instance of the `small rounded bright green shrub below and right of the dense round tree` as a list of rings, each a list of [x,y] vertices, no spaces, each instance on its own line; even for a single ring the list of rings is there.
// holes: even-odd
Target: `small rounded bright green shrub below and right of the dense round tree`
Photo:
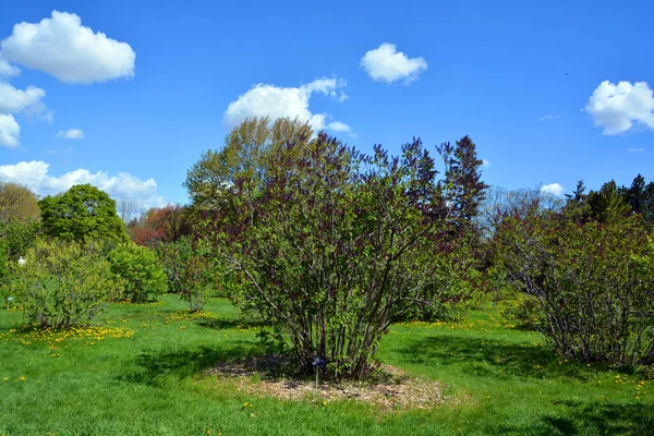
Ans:
[[[167,290],[166,274],[154,251],[133,243],[109,252],[111,271],[124,280],[124,298],[143,303]]]

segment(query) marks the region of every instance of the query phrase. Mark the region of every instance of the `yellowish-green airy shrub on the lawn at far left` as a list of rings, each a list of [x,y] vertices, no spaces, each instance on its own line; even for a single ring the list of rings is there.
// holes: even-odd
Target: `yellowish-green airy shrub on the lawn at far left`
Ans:
[[[122,290],[95,243],[38,241],[25,261],[21,266],[12,264],[11,281],[3,289],[5,301],[43,328],[88,324]]]

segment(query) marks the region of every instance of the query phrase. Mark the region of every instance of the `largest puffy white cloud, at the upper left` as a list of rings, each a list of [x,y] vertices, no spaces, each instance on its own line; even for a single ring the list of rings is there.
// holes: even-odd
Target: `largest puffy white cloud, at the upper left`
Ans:
[[[61,82],[94,83],[134,76],[136,53],[129,44],[94,33],[80,16],[52,11],[39,23],[15,24],[0,43],[5,60],[53,75]]]

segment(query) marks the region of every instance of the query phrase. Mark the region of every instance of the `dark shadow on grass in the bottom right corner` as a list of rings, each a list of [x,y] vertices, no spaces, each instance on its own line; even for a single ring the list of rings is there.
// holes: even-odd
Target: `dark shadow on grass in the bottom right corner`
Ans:
[[[566,403],[565,416],[545,416],[535,435],[632,435],[654,434],[654,407],[641,403]]]

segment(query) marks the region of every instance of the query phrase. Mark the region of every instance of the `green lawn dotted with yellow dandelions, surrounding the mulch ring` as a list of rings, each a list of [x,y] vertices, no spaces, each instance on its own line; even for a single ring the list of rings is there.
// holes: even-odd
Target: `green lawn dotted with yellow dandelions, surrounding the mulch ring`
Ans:
[[[205,370],[262,353],[257,330],[225,300],[207,311],[192,316],[171,295],[117,304],[105,328],[64,339],[0,312],[0,435],[654,434],[646,374],[560,361],[497,311],[391,328],[383,361],[441,382],[447,396],[434,410],[408,412],[238,391]]]

